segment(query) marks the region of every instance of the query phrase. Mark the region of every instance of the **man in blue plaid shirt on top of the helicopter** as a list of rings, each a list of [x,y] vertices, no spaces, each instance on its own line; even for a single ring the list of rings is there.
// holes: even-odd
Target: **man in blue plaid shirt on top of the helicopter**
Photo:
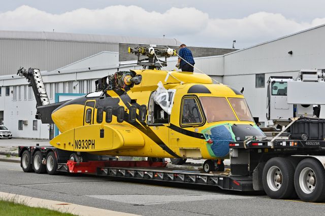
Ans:
[[[186,47],[185,44],[182,44],[179,48],[181,49],[178,51],[179,57],[176,67],[182,69],[182,71],[193,72],[194,68],[192,65],[195,64],[195,61],[193,59],[192,52]]]

